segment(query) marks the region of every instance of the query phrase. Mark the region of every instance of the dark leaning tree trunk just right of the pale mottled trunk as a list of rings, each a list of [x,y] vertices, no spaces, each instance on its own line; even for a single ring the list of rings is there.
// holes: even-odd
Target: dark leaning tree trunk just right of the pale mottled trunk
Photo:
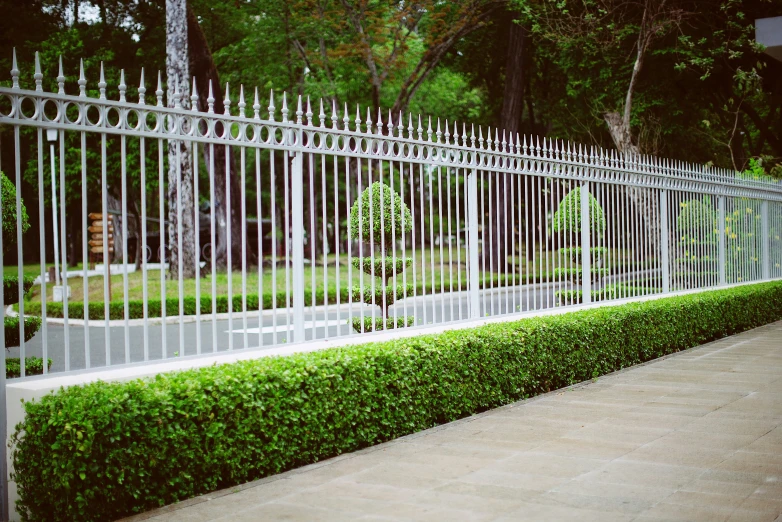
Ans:
[[[190,71],[196,80],[196,89],[198,91],[198,109],[200,111],[206,111],[209,107],[207,98],[209,98],[209,83],[211,81],[212,89],[214,92],[214,111],[217,114],[222,114],[225,111],[223,105],[223,96],[221,96],[220,88],[220,76],[217,73],[217,67],[212,57],[212,52],[209,49],[209,43],[206,40],[201,26],[198,23],[193,10],[188,7],[187,9],[187,42],[190,56]],[[203,131],[206,131],[206,124],[203,124]],[[219,134],[223,131],[221,125],[217,125],[216,132]],[[209,172],[210,148],[209,145],[204,145],[203,157],[204,168]],[[226,268],[228,264],[228,227],[226,220],[226,191],[225,191],[225,156],[226,147],[223,145],[216,145],[214,147],[214,183],[215,183],[215,241],[216,245],[213,245],[213,254],[216,256],[215,264],[217,268]],[[231,235],[232,238],[240,238],[237,234],[241,234],[241,187],[239,186],[239,177],[234,175],[236,172],[234,168],[233,156],[229,156],[228,163],[231,170]],[[204,187],[208,190],[208,186]],[[208,228],[211,225],[207,223],[202,224],[203,227]],[[242,244],[241,241],[233,241],[232,247],[232,259],[234,266],[241,266]],[[255,252],[247,251],[247,264],[255,265],[258,262],[258,258]],[[211,269],[211,264],[207,263],[205,267]]]

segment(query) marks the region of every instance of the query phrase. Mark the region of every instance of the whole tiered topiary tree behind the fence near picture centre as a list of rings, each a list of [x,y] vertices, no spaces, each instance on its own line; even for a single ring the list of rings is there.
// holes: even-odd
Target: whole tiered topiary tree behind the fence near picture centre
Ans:
[[[363,321],[353,319],[352,326],[357,332],[401,328],[413,323],[412,317],[407,322],[404,318],[394,321],[388,317],[388,309],[397,299],[413,293],[412,284],[392,283],[394,276],[399,276],[413,259],[391,256],[394,241],[402,239],[404,233],[412,230],[412,225],[413,216],[407,205],[384,183],[375,182],[367,187],[350,209],[350,238],[374,245],[374,256],[353,258],[353,266],[370,276],[363,289],[353,287],[353,300],[377,305],[381,311],[381,317],[374,321],[372,317]],[[370,254],[368,250],[365,248],[363,254]]]

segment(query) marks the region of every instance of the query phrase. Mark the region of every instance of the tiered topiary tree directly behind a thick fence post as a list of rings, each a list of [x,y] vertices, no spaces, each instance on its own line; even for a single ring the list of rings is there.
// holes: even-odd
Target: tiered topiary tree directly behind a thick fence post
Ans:
[[[551,228],[554,232],[577,235],[580,240],[581,219],[581,188],[571,190],[560,202],[556,212],[552,216]],[[592,237],[600,238],[605,232],[606,222],[603,207],[592,194],[589,194],[589,230]],[[582,285],[581,281],[581,247],[560,249],[560,253],[569,260],[570,267],[559,267],[554,270],[554,277],[564,276],[575,286]],[[599,277],[608,274],[608,268],[603,266],[606,248],[590,247],[592,282],[597,283]],[[598,291],[593,290],[593,294]],[[582,290],[557,292],[557,297],[562,304],[575,304],[581,302]]]

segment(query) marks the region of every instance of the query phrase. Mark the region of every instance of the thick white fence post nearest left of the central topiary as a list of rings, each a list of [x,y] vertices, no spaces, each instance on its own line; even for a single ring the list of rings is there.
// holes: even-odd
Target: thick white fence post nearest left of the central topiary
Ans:
[[[298,133],[296,144],[301,146],[302,131],[290,131],[291,138]],[[294,140],[289,140],[289,145]],[[293,258],[293,342],[304,342],[304,153],[295,152],[291,169],[291,242]]]

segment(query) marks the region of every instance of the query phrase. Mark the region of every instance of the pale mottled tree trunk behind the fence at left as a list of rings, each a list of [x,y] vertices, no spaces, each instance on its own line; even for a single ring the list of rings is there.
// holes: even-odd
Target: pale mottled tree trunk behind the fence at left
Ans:
[[[169,107],[180,104],[190,108],[190,67],[187,45],[187,1],[166,0],[166,75]],[[176,86],[176,87],[175,87]],[[193,203],[193,170],[191,144],[186,140],[168,143],[168,222],[169,276],[178,279],[195,277],[195,234]],[[181,209],[177,207],[181,204]],[[181,210],[182,220],[179,221]],[[182,236],[179,236],[179,227]],[[181,240],[181,250],[179,242]],[[179,260],[182,259],[182,273]]]

